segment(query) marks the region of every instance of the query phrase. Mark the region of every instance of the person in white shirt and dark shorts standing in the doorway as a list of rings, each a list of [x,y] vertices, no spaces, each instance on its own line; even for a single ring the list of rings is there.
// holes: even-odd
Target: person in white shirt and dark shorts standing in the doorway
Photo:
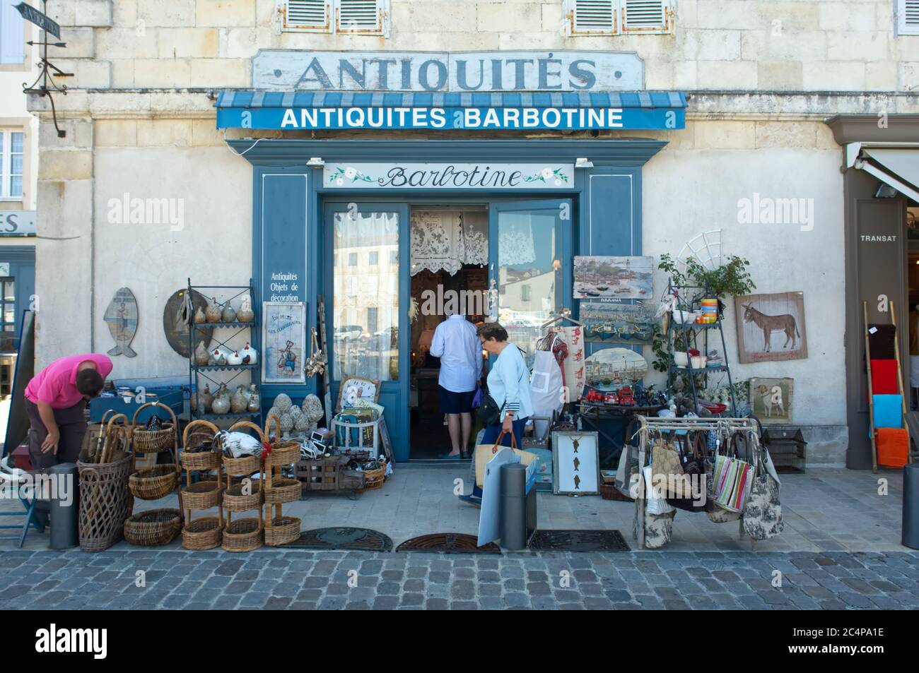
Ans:
[[[459,314],[437,325],[431,354],[440,358],[440,412],[447,414],[452,451],[441,454],[447,460],[462,457],[472,432],[472,398],[482,377],[482,346],[475,325]]]

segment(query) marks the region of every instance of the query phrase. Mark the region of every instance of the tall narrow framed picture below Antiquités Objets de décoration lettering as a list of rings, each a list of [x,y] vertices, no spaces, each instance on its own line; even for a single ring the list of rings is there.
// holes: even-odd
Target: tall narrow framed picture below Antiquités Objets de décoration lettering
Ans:
[[[262,302],[262,383],[306,383],[306,303]]]

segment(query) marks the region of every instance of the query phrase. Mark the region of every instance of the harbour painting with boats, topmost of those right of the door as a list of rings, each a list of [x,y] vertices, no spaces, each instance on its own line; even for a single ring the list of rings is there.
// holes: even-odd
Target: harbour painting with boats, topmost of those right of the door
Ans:
[[[574,257],[574,298],[652,298],[653,257]]]

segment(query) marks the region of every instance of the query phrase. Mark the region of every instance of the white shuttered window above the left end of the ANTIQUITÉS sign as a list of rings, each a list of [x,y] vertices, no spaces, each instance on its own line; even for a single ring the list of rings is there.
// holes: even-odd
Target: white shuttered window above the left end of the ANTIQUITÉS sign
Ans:
[[[389,0],[282,0],[285,30],[389,37]]]

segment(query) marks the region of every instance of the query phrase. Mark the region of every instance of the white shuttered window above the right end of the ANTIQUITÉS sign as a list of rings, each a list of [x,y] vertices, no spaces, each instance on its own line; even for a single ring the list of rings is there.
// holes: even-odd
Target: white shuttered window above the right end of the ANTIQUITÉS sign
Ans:
[[[563,0],[568,36],[673,34],[676,0]]]

